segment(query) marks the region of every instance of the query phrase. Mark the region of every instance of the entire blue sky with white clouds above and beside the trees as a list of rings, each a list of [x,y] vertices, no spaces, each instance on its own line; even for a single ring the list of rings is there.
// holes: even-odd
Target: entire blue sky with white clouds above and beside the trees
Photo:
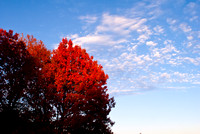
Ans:
[[[0,0],[0,27],[63,37],[109,75],[116,134],[200,133],[199,0]]]

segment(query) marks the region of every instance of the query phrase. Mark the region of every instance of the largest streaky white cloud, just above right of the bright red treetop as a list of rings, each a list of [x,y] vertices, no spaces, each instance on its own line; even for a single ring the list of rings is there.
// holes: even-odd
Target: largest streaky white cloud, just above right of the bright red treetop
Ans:
[[[82,16],[80,19],[88,23],[96,21],[97,17]],[[121,43],[126,43],[130,33],[144,28],[145,18],[128,18],[119,15],[105,13],[100,18],[101,23],[94,28],[94,31],[87,35],[71,35],[74,42],[81,45],[109,45],[116,49],[122,48]]]

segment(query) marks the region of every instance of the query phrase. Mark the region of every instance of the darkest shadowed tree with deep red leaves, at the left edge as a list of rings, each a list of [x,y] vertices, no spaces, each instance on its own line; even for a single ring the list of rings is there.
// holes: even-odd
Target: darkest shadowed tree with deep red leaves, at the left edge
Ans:
[[[26,92],[34,81],[33,58],[18,34],[0,29],[0,116],[1,127],[12,132],[27,108]]]

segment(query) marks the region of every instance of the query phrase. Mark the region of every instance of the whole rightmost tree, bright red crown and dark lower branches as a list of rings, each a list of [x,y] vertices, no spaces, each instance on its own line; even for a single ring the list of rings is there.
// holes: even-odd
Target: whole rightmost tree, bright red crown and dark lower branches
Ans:
[[[59,95],[57,124],[62,133],[111,133],[114,99],[107,94],[102,66],[85,49],[63,39],[53,51],[52,71]],[[60,126],[62,124],[62,126]]]

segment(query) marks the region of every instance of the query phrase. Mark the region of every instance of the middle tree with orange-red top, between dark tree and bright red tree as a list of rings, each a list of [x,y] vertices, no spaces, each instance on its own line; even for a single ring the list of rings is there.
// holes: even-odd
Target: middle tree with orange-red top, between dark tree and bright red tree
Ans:
[[[34,123],[42,124],[43,129],[48,133],[52,131],[52,118],[55,114],[53,105],[56,101],[54,77],[49,73],[51,63],[51,51],[47,50],[42,41],[33,36],[27,35],[20,38],[26,44],[27,51],[34,59],[35,81],[32,81],[32,88],[27,92],[29,109],[26,111]],[[31,109],[31,110],[30,110]],[[41,126],[40,126],[41,127]]]

